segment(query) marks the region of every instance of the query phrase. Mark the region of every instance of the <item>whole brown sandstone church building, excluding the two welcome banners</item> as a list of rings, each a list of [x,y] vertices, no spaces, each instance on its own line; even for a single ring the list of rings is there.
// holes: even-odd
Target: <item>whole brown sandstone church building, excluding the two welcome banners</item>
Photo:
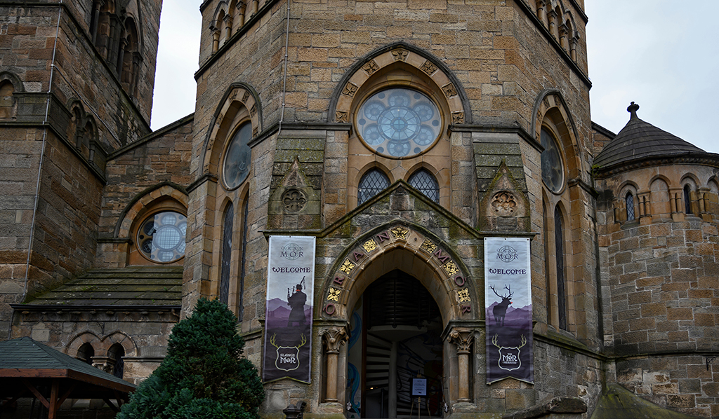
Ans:
[[[206,0],[152,132],[160,9],[0,5],[2,339],[139,382],[220,298],[260,366],[268,237],[312,236],[311,382],[266,417],[406,416],[418,371],[433,417],[719,417],[719,156],[592,123],[583,0]],[[485,237],[530,239],[533,383],[486,384]]]

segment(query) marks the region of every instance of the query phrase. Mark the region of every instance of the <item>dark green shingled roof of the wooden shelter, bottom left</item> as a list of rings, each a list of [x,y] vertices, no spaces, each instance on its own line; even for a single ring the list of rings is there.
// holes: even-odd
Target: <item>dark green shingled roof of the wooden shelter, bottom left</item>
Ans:
[[[131,392],[135,386],[79,359],[47,347],[29,337],[0,342],[0,389],[12,389],[15,380],[67,379],[85,382],[104,389]],[[86,386],[84,390],[92,390]],[[3,387],[7,387],[3,389]],[[22,385],[21,385],[22,387]],[[81,386],[82,387],[82,386]],[[84,391],[83,390],[83,391]]]

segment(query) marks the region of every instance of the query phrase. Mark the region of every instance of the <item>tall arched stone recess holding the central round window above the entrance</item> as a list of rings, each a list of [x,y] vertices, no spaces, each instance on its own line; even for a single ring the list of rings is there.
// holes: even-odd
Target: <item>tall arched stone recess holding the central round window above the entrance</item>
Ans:
[[[403,98],[396,108],[393,98]],[[391,168],[385,174],[393,181],[407,179],[422,163],[436,177],[448,179],[439,184],[439,203],[452,206],[449,127],[470,123],[471,110],[462,84],[441,60],[405,42],[370,52],[336,86],[328,118],[354,124],[348,141],[347,210],[359,202],[359,171],[372,164]],[[390,125],[392,119],[403,121],[402,128]]]

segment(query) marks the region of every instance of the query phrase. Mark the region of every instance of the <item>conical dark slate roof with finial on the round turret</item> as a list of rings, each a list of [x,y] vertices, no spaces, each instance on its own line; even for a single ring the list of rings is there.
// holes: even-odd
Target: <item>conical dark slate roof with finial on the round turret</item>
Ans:
[[[631,103],[629,122],[594,159],[595,167],[608,169],[643,159],[672,157],[687,154],[707,154],[687,141],[642,121],[636,116],[639,105]]]

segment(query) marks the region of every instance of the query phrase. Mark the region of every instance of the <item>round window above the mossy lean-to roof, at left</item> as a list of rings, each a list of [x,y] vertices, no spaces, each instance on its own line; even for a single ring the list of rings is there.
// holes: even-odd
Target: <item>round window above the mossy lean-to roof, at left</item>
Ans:
[[[142,255],[153,262],[174,262],[185,255],[187,217],[174,211],[157,212],[137,232]]]

